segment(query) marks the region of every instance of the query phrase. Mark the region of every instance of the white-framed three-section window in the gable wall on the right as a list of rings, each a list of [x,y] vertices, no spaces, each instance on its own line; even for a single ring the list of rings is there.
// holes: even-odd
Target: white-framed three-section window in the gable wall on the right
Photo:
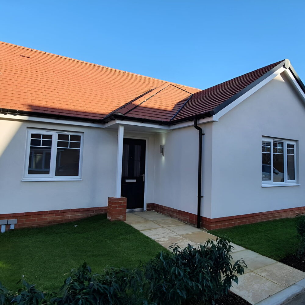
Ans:
[[[262,185],[296,185],[296,141],[262,138]]]

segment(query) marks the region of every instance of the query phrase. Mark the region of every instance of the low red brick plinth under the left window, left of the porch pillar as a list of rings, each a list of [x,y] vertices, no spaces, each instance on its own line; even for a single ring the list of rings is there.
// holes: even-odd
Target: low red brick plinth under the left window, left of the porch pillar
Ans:
[[[67,209],[67,210],[52,210],[39,212],[11,213],[0,214],[2,219],[17,219],[15,229],[42,227],[51,224],[59,224],[62,222],[75,221],[77,219],[90,217],[97,214],[106,214],[107,206],[82,208],[82,209]],[[7,229],[9,226],[7,226]]]

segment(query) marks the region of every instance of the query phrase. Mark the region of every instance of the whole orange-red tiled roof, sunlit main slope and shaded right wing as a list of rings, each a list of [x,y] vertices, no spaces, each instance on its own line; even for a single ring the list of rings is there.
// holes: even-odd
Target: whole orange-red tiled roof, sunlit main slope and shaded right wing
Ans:
[[[0,110],[174,123],[215,109],[279,63],[200,90],[0,42]]]

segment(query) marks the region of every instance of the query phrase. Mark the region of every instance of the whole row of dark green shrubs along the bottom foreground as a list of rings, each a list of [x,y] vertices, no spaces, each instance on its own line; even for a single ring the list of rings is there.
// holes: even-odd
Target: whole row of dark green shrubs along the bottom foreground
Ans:
[[[23,289],[13,294],[0,283],[0,305],[182,305],[204,303],[228,293],[236,274],[242,274],[246,264],[238,260],[231,264],[232,246],[228,239],[208,240],[204,245],[161,252],[147,264],[127,270],[108,268],[103,274],[92,274],[84,262],[72,269],[64,281],[59,296],[45,295],[22,279]],[[54,297],[52,297],[54,295]],[[57,296],[56,296],[57,295]]]

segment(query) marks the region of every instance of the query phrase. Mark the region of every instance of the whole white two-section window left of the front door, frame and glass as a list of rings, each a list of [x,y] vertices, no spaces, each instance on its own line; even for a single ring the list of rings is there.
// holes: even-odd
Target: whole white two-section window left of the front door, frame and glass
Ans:
[[[81,180],[83,133],[27,130],[22,181]]]

